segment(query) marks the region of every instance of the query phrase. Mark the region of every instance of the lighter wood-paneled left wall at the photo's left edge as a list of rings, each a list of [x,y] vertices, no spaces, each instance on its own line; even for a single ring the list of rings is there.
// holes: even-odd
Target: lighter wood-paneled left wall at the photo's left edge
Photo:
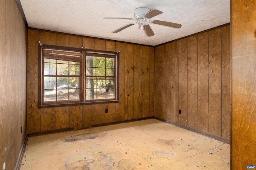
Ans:
[[[0,167],[15,169],[26,135],[26,26],[15,0],[0,0]],[[21,127],[23,132],[21,133]]]

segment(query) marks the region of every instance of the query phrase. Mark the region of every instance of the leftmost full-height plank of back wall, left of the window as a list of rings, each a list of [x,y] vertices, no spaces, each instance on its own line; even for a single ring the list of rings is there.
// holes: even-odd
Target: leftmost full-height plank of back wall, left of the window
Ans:
[[[27,133],[40,131],[40,111],[38,110],[38,41],[41,32],[28,29],[27,51]]]

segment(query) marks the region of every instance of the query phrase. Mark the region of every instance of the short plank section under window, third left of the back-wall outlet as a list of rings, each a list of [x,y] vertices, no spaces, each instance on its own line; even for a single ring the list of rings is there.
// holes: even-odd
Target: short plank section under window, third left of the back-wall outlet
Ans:
[[[69,127],[74,127],[74,130],[82,129],[82,106],[70,106]]]

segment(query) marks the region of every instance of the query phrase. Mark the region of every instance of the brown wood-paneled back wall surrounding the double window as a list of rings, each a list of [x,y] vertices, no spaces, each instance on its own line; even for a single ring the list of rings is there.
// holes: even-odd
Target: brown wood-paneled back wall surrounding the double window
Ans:
[[[38,109],[38,41],[42,44],[120,51],[119,102]],[[154,116],[154,47],[28,29],[27,132]],[[105,113],[108,108],[108,113]]]

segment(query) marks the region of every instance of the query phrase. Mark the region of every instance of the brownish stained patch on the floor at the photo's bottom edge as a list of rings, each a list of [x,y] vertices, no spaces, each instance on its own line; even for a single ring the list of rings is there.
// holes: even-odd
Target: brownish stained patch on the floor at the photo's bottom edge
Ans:
[[[59,168],[59,170],[90,170],[90,164],[95,162],[94,159],[78,160]]]

